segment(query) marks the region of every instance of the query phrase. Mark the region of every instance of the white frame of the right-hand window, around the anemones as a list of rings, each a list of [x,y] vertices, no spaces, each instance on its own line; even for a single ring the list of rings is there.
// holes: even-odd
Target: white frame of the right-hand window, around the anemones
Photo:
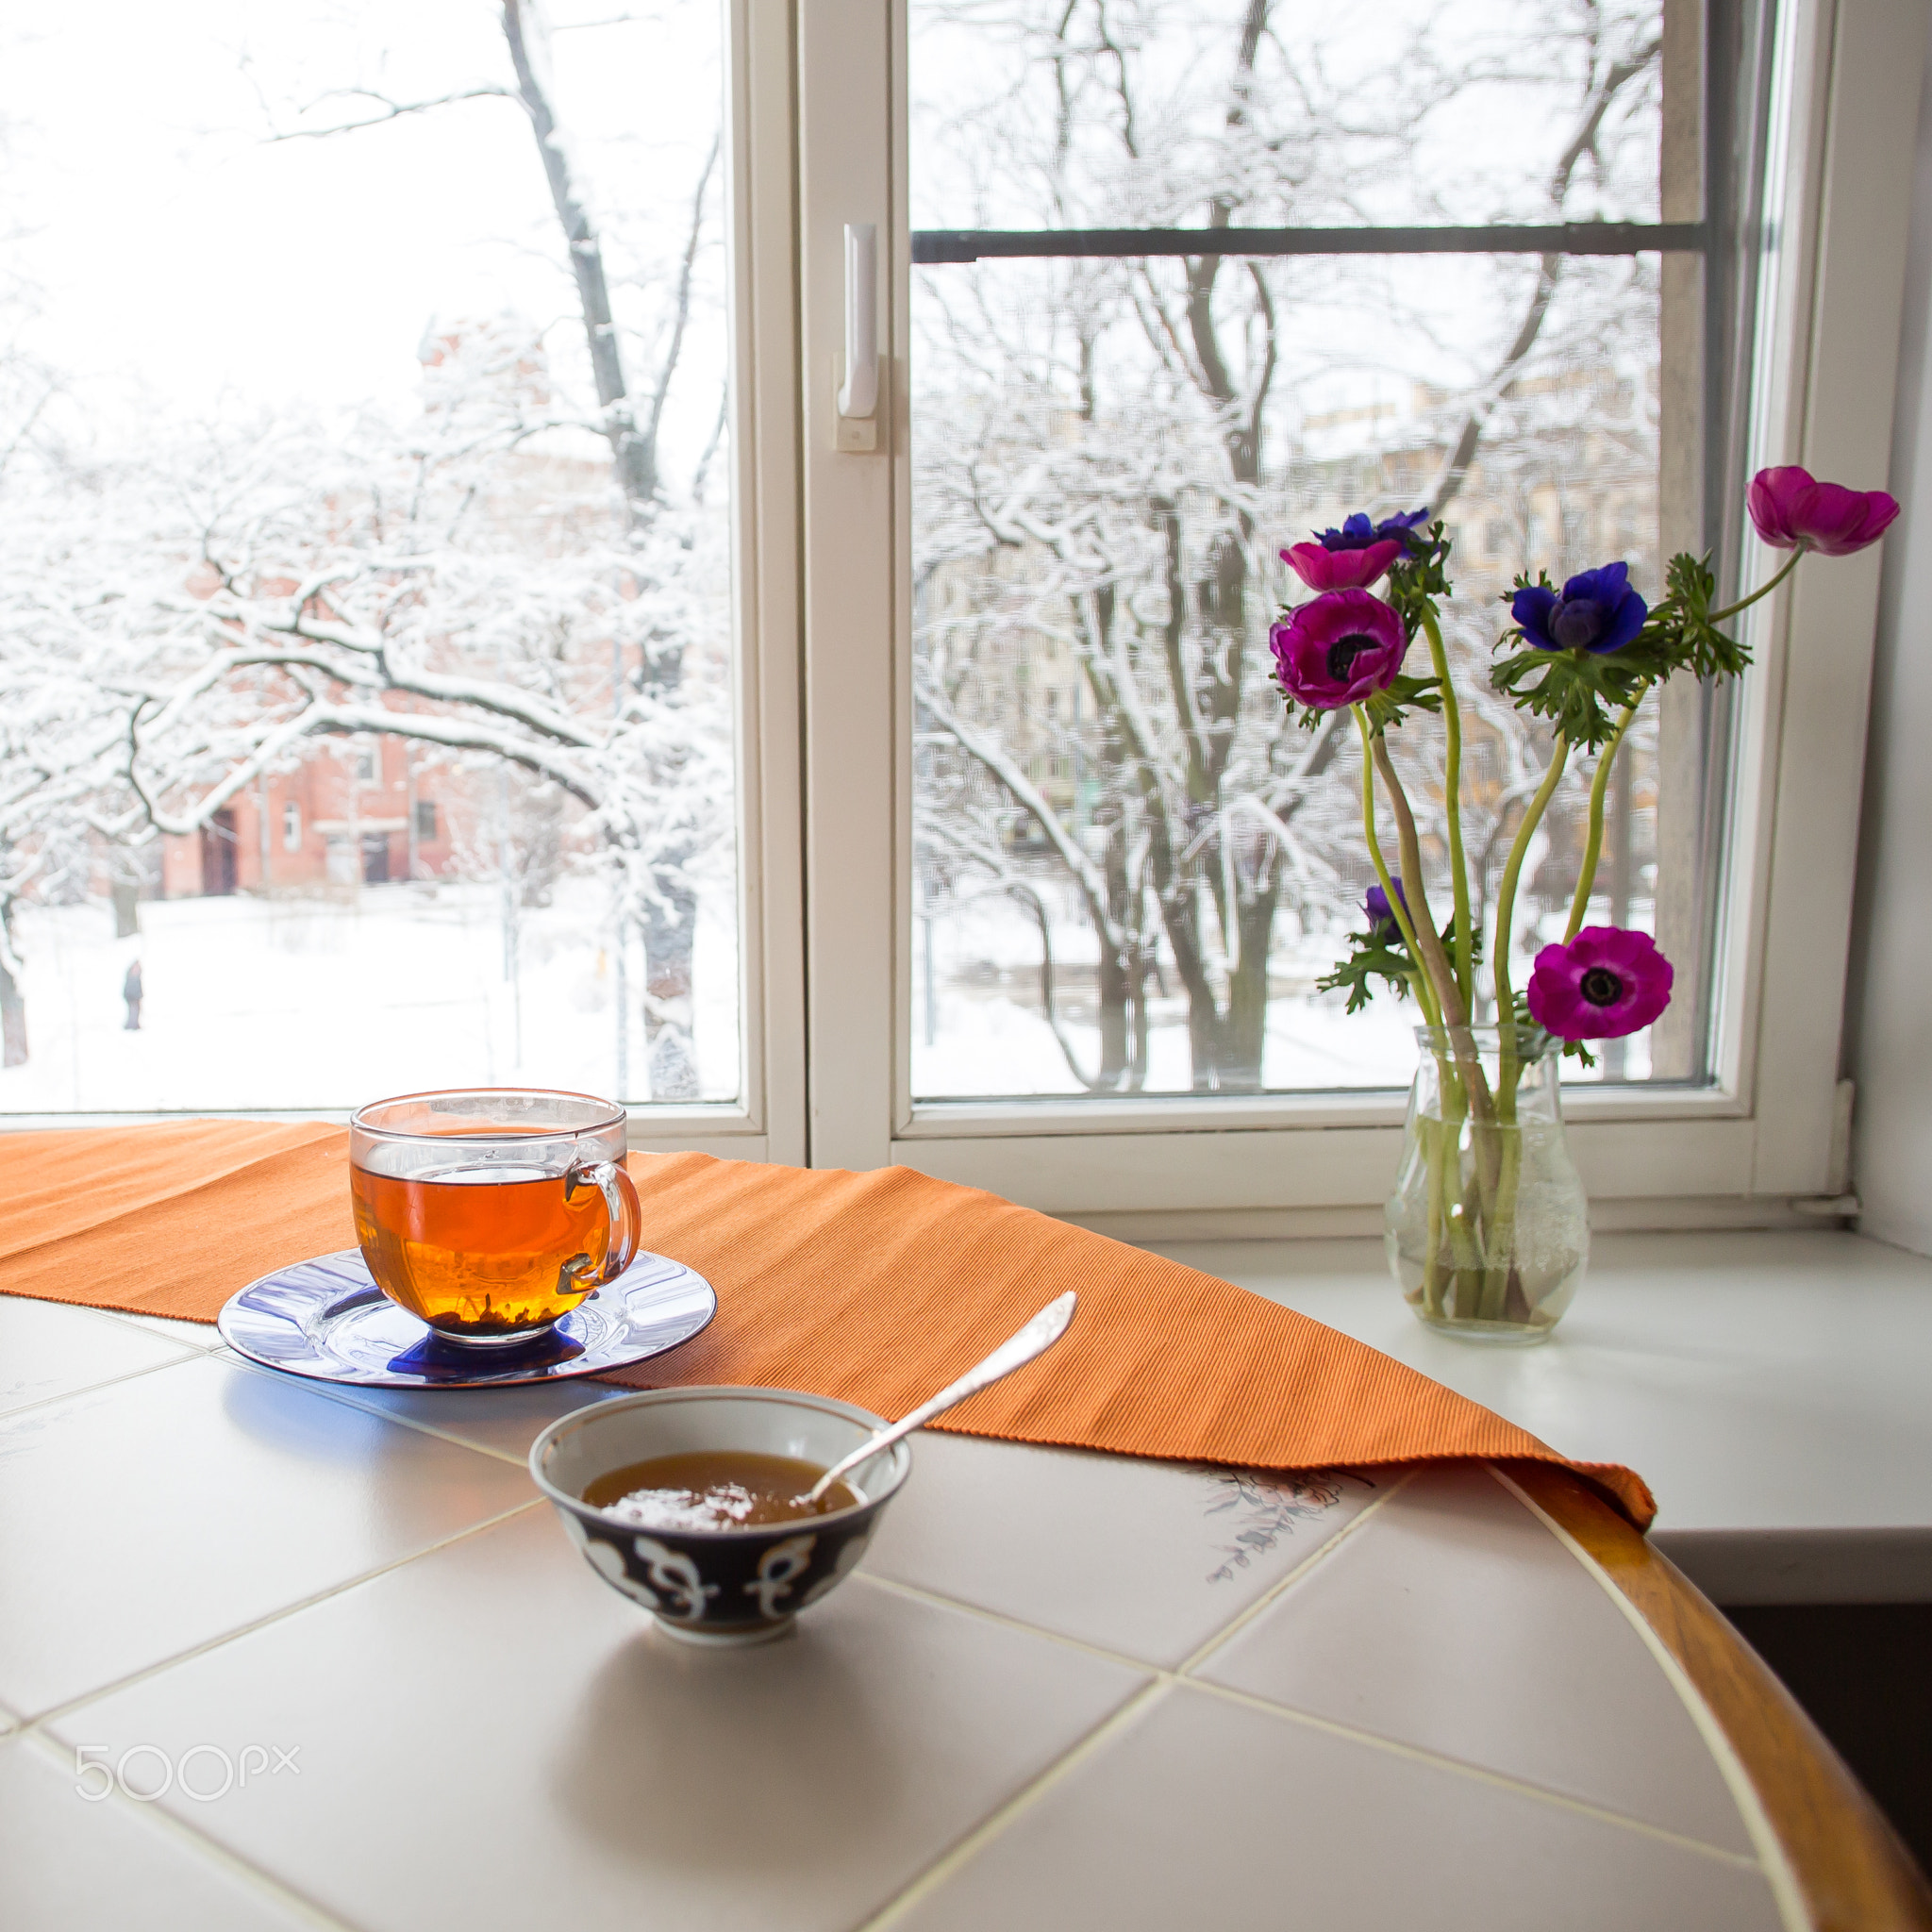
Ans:
[[[1750,462],[1872,487],[1889,464],[1924,21],[1895,0],[1779,0],[1776,14],[1776,243],[1760,269]],[[1395,1171],[1401,1095],[910,1097],[904,0],[810,0],[794,25],[811,1163],[910,1165],[1121,1233],[1186,1233],[1177,1217],[1202,1211],[1215,1233],[1368,1229]],[[835,448],[846,222],[879,230],[879,454]],[[1876,551],[1812,562],[1756,622],[1731,761],[1716,1080],[1567,1090],[1600,1227],[1764,1223],[1843,1188],[1839,1032],[1878,570]]]

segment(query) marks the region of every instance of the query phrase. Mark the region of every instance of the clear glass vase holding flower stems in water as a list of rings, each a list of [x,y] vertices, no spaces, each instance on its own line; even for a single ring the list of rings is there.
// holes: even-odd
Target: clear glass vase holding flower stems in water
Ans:
[[[1461,1341],[1540,1343],[1590,1262],[1590,1204],[1563,1136],[1563,1041],[1542,1028],[1418,1026],[1389,1269]]]

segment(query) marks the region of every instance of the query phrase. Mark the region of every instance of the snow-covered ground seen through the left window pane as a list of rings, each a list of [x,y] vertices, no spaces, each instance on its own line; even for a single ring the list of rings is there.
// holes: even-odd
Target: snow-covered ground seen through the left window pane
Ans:
[[[504,978],[491,885],[363,887],[355,904],[180,898],[114,939],[102,904],[29,908],[25,1066],[0,1113],[354,1107],[379,1094],[531,1084],[647,1097],[641,960],[630,960],[630,1080],[618,1080],[611,923],[601,891],[564,881],[520,912]],[[141,960],[141,1032],[122,976]],[[705,1099],[738,1092],[738,964],[728,923],[697,923]]]

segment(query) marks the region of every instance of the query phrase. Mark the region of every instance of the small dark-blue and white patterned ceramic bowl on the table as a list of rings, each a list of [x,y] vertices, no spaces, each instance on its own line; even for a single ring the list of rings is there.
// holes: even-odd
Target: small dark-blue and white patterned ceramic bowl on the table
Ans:
[[[752,1449],[831,1468],[879,1416],[792,1389],[647,1389],[553,1422],[529,1449],[529,1474],[556,1505],[572,1542],[612,1590],[641,1604],[672,1636],[757,1644],[858,1563],[879,1511],[912,1474],[893,1443],[844,1480],[860,1501],[825,1517],[736,1530],[641,1530],[583,1501],[611,1470],[694,1449]]]

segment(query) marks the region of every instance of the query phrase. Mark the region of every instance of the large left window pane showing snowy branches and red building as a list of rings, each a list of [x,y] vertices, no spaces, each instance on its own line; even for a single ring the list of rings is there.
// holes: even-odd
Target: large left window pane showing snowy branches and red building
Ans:
[[[8,33],[0,1109],[738,1094],[721,58]]]

